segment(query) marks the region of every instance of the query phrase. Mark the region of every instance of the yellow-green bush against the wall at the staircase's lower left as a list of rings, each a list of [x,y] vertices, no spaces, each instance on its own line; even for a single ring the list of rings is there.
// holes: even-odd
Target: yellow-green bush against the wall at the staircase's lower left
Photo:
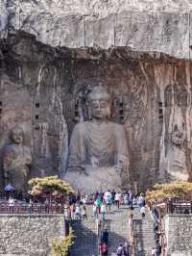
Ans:
[[[73,245],[75,236],[73,235],[73,230],[69,228],[69,235],[53,239],[51,242],[52,255],[53,256],[68,256],[69,249]]]

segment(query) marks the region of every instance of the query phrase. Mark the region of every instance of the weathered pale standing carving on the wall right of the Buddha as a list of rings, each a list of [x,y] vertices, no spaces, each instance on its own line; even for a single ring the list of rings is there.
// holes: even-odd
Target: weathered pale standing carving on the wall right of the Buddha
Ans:
[[[184,95],[184,97],[183,97]],[[165,90],[165,170],[168,180],[188,180],[190,154],[186,138],[186,92],[179,85]]]

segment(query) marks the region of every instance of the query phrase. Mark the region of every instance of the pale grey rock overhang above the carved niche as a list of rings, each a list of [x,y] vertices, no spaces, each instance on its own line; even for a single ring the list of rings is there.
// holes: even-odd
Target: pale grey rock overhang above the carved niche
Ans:
[[[190,58],[190,1],[1,0],[1,28],[22,30],[51,46],[129,46]]]

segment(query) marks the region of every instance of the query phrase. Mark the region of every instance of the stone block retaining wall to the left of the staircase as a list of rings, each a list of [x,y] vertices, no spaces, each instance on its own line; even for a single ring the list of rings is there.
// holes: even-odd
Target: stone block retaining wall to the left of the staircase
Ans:
[[[59,215],[4,215],[0,228],[1,255],[51,255],[51,240],[65,235],[64,218]]]

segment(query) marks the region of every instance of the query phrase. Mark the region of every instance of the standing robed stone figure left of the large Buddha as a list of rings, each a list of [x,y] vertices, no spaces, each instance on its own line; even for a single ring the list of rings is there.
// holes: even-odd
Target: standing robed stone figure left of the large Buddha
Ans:
[[[32,164],[30,148],[23,144],[24,132],[16,126],[11,131],[11,143],[3,151],[3,167],[5,183],[12,184],[16,191],[25,192]]]

